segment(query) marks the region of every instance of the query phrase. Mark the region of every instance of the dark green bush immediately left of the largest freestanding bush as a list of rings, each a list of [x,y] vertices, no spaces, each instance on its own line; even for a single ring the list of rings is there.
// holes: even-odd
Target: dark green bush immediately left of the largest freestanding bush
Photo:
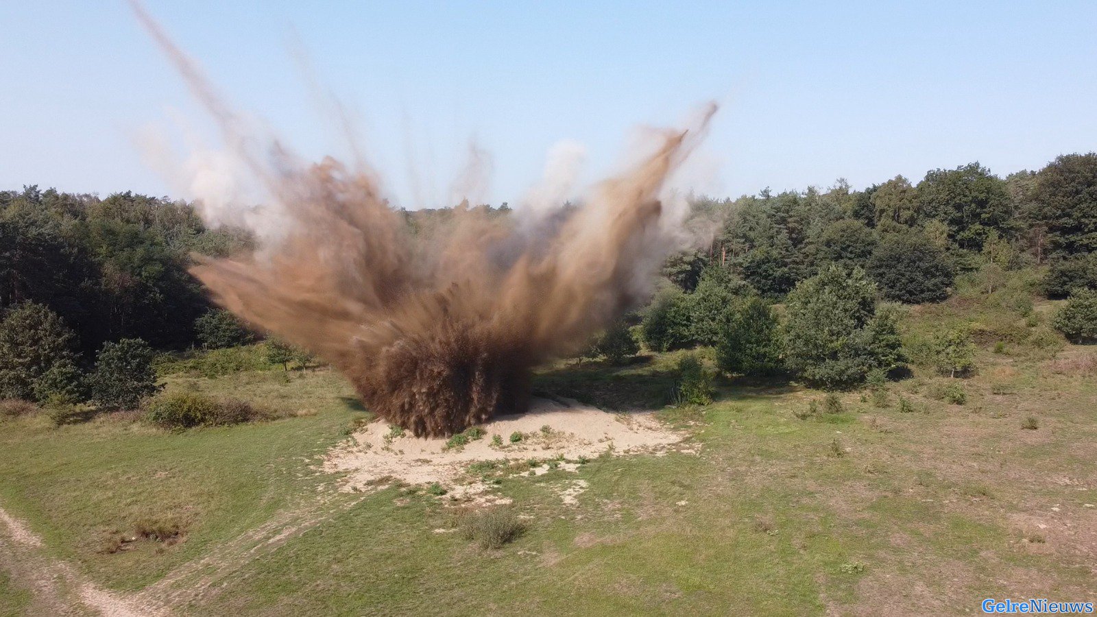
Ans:
[[[781,332],[773,310],[751,296],[726,308],[716,344],[716,363],[724,371],[771,374],[781,367]]]

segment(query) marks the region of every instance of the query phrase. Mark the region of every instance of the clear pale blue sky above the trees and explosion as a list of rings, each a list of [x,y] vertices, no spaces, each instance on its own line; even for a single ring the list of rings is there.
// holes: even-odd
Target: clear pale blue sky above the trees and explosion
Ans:
[[[706,100],[708,192],[857,188],[1097,148],[1097,2],[148,0],[238,109],[340,153],[291,53],[360,119],[397,203],[442,205],[471,138],[516,202],[553,144],[587,179]],[[0,2],[0,188],[179,195],[135,135],[200,111],[122,0]],[[414,173],[409,173],[414,170]],[[417,179],[417,180],[416,180]]]

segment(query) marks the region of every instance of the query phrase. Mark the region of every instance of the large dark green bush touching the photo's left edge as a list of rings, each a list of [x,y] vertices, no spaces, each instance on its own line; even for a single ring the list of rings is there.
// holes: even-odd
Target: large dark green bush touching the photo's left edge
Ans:
[[[42,304],[26,302],[8,311],[0,322],[0,399],[78,394],[75,341],[72,330]]]

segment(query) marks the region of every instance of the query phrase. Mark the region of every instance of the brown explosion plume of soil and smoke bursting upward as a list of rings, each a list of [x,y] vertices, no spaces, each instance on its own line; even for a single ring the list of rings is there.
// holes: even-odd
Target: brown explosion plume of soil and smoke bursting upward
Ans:
[[[524,411],[532,369],[642,302],[681,247],[680,216],[660,198],[714,104],[694,128],[658,132],[653,153],[579,205],[510,217],[462,205],[419,228],[364,165],[306,165],[276,141],[257,154],[189,58],[135,9],[280,214],[279,237],[250,255],[196,257],[191,272],[218,304],[324,358],[367,408],[416,436]]]

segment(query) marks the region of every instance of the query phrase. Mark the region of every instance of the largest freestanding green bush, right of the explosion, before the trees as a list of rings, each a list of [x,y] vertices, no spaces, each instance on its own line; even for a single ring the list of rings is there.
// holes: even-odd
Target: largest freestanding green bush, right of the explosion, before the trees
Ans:
[[[789,294],[785,364],[810,383],[848,388],[903,361],[897,313],[877,310],[875,285],[857,268],[828,266]]]

